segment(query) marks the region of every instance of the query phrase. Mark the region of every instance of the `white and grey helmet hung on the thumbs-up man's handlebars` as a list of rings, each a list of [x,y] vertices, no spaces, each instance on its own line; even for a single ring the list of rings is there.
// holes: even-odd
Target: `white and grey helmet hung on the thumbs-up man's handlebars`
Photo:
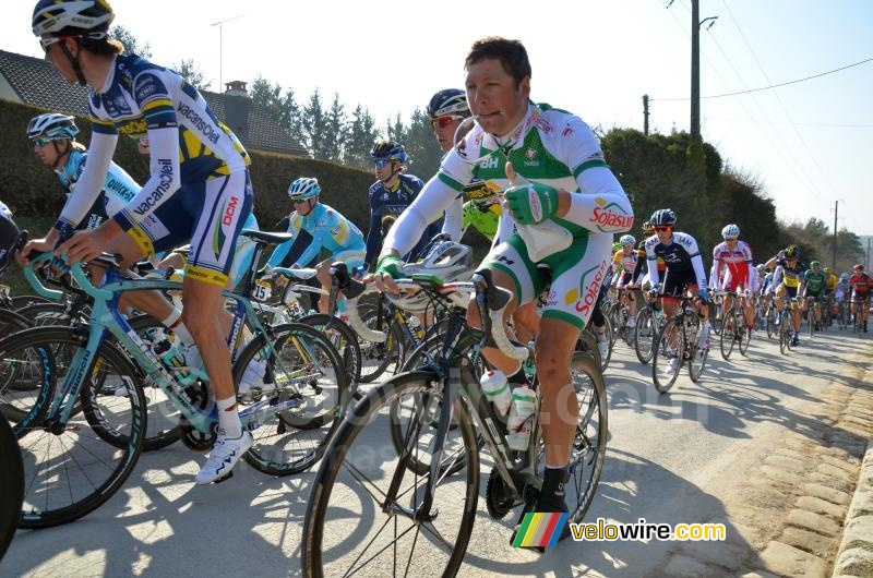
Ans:
[[[454,241],[441,241],[431,248],[424,258],[404,265],[403,272],[406,277],[416,274],[432,275],[439,277],[444,284],[468,281],[473,278],[474,273],[473,250]],[[423,312],[430,305],[430,300],[424,291],[414,294],[385,293],[385,297],[395,306],[411,313]]]

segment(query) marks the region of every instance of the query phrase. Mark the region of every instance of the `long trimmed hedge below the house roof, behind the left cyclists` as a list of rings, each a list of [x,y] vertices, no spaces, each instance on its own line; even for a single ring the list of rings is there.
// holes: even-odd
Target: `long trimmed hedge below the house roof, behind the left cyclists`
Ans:
[[[0,100],[0,200],[16,214],[55,217],[63,207],[63,195],[55,174],[34,154],[25,135],[27,122],[44,109]],[[91,123],[77,117],[82,133],[79,140],[91,140]],[[288,184],[297,177],[315,177],[322,185],[322,201],[336,207],[361,231],[369,229],[370,208],[367,190],[374,176],[310,158],[274,153],[249,152],[254,186],[254,213],[261,228],[268,229],[291,210]],[[115,161],[137,182],[148,177],[148,159],[136,152],[130,139],[119,139]],[[40,233],[44,231],[40,231]]]

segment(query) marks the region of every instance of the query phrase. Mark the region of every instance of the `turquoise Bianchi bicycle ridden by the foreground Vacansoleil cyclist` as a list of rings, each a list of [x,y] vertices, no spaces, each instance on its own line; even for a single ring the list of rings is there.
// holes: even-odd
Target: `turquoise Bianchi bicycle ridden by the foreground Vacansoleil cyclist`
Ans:
[[[283,240],[283,236],[271,233],[246,233],[259,241],[256,254],[264,242]],[[41,258],[51,258],[51,254],[32,262]],[[14,425],[22,453],[28,456],[25,460],[28,492],[19,523],[22,528],[46,528],[76,519],[99,507],[121,487],[143,445],[146,411],[141,373],[154,381],[180,412],[179,425],[186,445],[208,448],[215,437],[214,396],[198,369],[168,369],[117,309],[123,291],[179,290],[181,284],[125,278],[113,255],[104,254],[91,263],[106,268],[99,288],[91,284],[81,264],[72,266],[79,287],[94,298],[87,326],[75,330],[27,329],[0,341],[4,356],[34,350],[43,370],[36,404]],[[25,273],[33,276],[29,268]],[[247,288],[251,287],[253,276],[254,272],[247,280]],[[40,292],[50,294],[41,286]],[[263,390],[240,410],[242,426],[254,437],[244,459],[273,475],[303,471],[321,458],[345,410],[348,383],[342,360],[330,341],[312,327],[299,324],[265,327],[243,294],[225,291],[224,296],[237,302],[231,344],[235,347],[239,344],[243,320],[254,329],[253,338],[237,356],[234,383],[240,383],[252,360],[264,366]],[[108,333],[118,344],[106,339]],[[35,342],[35,336],[41,341]],[[60,380],[55,375],[51,353],[57,344],[74,351],[62,384],[57,383]],[[111,408],[99,405],[100,396],[92,378],[95,371],[115,372],[117,382],[125,388],[127,395],[113,396]],[[73,414],[76,400],[82,405],[81,417]],[[62,439],[52,443],[58,437]],[[58,468],[64,471],[63,477],[56,474]],[[63,483],[67,487],[59,489]]]

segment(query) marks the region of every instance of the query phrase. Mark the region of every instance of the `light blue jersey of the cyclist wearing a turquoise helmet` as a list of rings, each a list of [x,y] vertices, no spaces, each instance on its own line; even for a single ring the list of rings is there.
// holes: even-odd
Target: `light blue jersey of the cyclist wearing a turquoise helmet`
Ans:
[[[304,267],[319,256],[322,249],[332,255],[351,250],[363,253],[366,250],[363,236],[355,224],[324,203],[316,204],[306,217],[297,212],[291,213],[288,232],[291,239],[273,251],[267,263],[270,266]],[[285,263],[288,254],[300,256],[289,264]]]

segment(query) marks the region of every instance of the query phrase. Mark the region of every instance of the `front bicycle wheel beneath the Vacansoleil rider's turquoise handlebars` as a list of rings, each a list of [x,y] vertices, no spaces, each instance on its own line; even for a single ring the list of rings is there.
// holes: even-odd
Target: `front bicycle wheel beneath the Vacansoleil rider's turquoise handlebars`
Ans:
[[[85,332],[71,330],[70,327],[35,327],[17,334],[12,339],[3,340],[4,354],[14,353],[16,349],[33,348],[34,335],[45,342],[65,344],[72,348],[83,348],[87,344]],[[37,344],[37,347],[41,346]],[[20,528],[49,528],[89,514],[112,497],[136,465],[143,447],[143,432],[147,420],[145,395],[137,378],[140,370],[121,348],[106,341],[97,350],[92,369],[96,360],[103,360],[108,366],[115,368],[119,375],[124,376],[122,383],[127,388],[127,395],[119,399],[128,400],[130,412],[127,417],[123,411],[119,411],[116,416],[119,416],[118,421],[130,424],[129,434],[125,436],[128,444],[119,450],[116,445],[107,443],[92,428],[85,426],[87,420],[84,416],[77,419],[75,416],[71,417],[63,431],[52,433],[51,428],[45,421],[47,407],[40,407],[40,404],[37,404],[13,428],[19,437],[22,455],[26,454],[32,458],[24,460],[26,490],[19,521]],[[49,372],[48,375],[44,375],[41,392],[52,393],[57,382],[61,381],[63,376],[57,375],[53,361],[44,369],[48,369]],[[88,398],[91,387],[93,387],[91,381],[84,380],[80,392],[82,399]],[[46,397],[51,399],[50,396]],[[41,406],[47,405],[41,404]],[[83,409],[87,410],[87,404],[84,404]],[[84,414],[86,411],[82,413]],[[88,432],[93,432],[93,434]],[[68,438],[58,441],[59,437]],[[71,456],[62,461],[62,455],[51,456],[50,450],[62,450]],[[73,454],[74,451],[79,454],[79,457]],[[45,458],[49,465],[45,482],[41,483],[37,480],[40,478],[40,470],[37,467],[39,458]],[[115,462],[115,466],[111,462]],[[88,466],[95,466],[96,472],[109,471],[106,480],[99,483],[96,481],[99,477],[98,473],[95,471],[85,473],[84,469]],[[56,474],[58,468],[64,471],[63,477]],[[82,470],[81,473],[73,471],[75,469]],[[31,475],[32,470],[36,470],[33,475]],[[57,485],[63,481],[69,482],[70,487],[58,490],[53,495],[62,494],[64,497],[69,495],[71,503],[56,506],[49,492],[57,490]],[[82,485],[89,485],[91,491],[88,487],[82,491]],[[29,499],[32,496],[33,499]],[[39,502],[39,507],[37,507],[37,502]]]

